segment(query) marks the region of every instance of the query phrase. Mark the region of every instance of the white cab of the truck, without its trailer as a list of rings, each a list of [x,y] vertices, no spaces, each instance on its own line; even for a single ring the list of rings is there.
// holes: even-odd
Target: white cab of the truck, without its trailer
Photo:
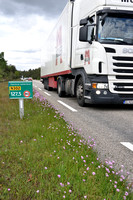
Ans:
[[[105,1],[80,19],[77,44],[74,68],[87,74],[84,100],[132,104],[133,2]]]

